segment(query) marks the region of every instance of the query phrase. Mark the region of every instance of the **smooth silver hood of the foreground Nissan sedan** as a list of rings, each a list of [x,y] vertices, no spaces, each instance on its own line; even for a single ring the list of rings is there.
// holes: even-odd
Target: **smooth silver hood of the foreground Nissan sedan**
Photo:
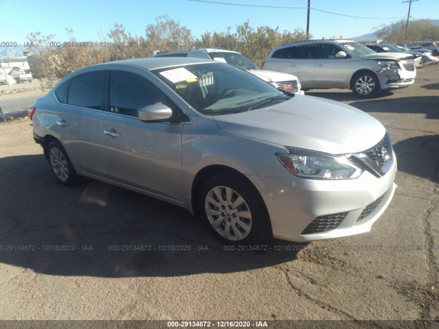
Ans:
[[[215,117],[222,132],[278,145],[348,154],[381,141],[385,128],[352,106],[296,95],[267,108]]]

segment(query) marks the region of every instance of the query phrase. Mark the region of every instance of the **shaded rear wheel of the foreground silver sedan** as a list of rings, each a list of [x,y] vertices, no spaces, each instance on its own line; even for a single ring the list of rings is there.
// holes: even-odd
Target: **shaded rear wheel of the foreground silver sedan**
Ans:
[[[49,143],[47,154],[51,171],[58,183],[69,186],[78,181],[78,174],[73,169],[66,150],[58,141]]]

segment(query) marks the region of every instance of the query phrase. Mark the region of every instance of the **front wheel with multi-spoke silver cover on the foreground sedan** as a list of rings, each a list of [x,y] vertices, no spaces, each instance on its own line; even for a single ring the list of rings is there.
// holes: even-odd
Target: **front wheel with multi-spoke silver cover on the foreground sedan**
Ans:
[[[236,173],[208,178],[200,189],[199,206],[205,223],[227,245],[255,245],[271,232],[262,197]]]

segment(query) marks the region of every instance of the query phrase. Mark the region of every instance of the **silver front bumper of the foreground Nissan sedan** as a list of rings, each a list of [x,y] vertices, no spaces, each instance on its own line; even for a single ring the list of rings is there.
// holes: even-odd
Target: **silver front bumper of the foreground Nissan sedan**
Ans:
[[[354,180],[249,179],[265,201],[274,238],[306,242],[369,232],[392,200],[395,175],[396,158],[381,178],[365,171]],[[316,221],[330,229],[312,230]]]

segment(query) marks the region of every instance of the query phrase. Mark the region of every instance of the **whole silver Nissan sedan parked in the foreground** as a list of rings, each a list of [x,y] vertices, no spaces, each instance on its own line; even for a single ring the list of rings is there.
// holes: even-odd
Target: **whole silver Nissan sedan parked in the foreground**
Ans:
[[[379,121],[213,60],[89,66],[29,116],[61,184],[84,175],[181,206],[224,243],[368,232],[396,187]]]

